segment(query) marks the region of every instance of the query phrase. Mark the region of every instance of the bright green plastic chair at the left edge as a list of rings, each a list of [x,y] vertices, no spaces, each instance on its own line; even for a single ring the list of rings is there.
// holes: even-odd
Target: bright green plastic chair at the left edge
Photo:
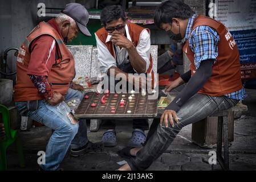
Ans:
[[[7,148],[12,143],[16,143],[19,155],[19,164],[23,168],[25,167],[25,160],[23,155],[23,149],[21,145],[21,140],[18,137],[18,130],[13,130],[10,127],[10,115],[9,110],[6,106],[0,105],[0,115],[2,115],[3,125],[5,126],[5,139],[0,142],[0,171],[7,170],[7,158],[6,151]]]

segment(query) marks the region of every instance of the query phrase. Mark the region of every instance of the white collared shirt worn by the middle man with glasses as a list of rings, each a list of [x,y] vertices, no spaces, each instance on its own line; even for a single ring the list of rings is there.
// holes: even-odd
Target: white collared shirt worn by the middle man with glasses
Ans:
[[[127,35],[127,39],[132,41],[131,36],[129,35],[129,29],[127,24],[125,25],[125,32]],[[95,34],[96,43],[97,43],[97,57],[100,61],[100,73],[107,73],[108,69],[111,67],[117,67],[116,60],[118,61],[118,64],[123,63],[129,63],[128,59],[128,52],[125,48],[119,48],[119,46],[116,46],[116,59],[111,55],[111,53],[108,51],[107,46],[101,40],[97,37]],[[110,41],[111,35],[107,36],[106,43]],[[140,34],[140,40],[136,47],[137,53],[145,60],[146,62],[146,72],[149,68],[149,57],[150,57],[150,48],[151,48],[151,39],[149,32],[144,29]],[[134,68],[133,68],[134,69]],[[134,69],[135,70],[135,69]],[[135,70],[135,72],[137,72]]]

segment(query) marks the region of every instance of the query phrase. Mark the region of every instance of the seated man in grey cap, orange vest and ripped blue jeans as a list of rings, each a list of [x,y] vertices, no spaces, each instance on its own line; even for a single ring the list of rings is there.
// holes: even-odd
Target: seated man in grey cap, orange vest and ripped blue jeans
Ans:
[[[78,122],[64,100],[82,100],[83,86],[72,84],[74,57],[66,47],[79,30],[87,30],[88,11],[70,3],[56,18],[40,22],[22,43],[17,57],[17,82],[14,101],[21,115],[54,130],[40,169],[59,169],[71,144],[71,155],[100,150],[100,143],[87,138],[86,121]]]

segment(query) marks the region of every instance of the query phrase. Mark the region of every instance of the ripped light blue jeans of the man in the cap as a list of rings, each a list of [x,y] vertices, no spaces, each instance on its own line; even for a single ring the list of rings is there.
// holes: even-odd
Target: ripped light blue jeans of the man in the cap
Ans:
[[[71,98],[82,100],[83,94],[78,90],[68,89],[64,100]],[[15,105],[20,112],[26,109],[27,102],[16,102]],[[66,107],[67,110],[70,110],[67,105]],[[28,111],[26,116],[54,130],[46,146],[46,164],[40,165],[46,171],[54,171],[59,168],[70,145],[72,148],[80,148],[88,142],[86,120],[72,124],[67,115],[59,111],[58,105],[52,106],[46,100],[40,100],[38,109]]]

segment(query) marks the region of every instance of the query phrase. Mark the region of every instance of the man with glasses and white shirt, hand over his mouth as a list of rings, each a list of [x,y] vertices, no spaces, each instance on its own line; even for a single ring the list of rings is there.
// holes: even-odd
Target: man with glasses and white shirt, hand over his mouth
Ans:
[[[100,19],[104,27],[95,33],[100,72],[110,75],[114,71],[115,76],[123,73],[127,80],[129,73],[153,73],[149,30],[127,23],[121,6],[105,7]],[[115,83],[110,83],[110,87],[110,90],[114,88]],[[115,122],[104,121],[101,126],[108,129],[101,142],[105,147],[116,146]],[[141,146],[146,139],[144,130],[148,130],[147,119],[133,119],[133,129],[128,146]]]

